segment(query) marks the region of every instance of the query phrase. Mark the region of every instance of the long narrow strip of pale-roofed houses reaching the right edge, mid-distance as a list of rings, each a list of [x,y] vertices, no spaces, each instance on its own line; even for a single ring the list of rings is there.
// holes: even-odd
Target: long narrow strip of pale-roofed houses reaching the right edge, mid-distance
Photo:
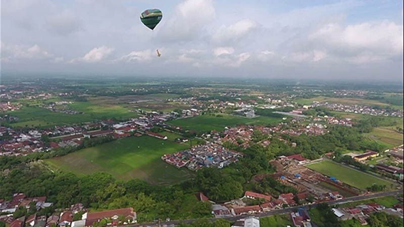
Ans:
[[[399,118],[402,118],[404,116],[404,111],[402,109],[374,108],[368,105],[356,105],[356,104],[347,105],[347,104],[314,101],[311,106],[312,107],[324,106],[334,111],[362,113],[365,115],[373,115],[373,116],[389,116]]]

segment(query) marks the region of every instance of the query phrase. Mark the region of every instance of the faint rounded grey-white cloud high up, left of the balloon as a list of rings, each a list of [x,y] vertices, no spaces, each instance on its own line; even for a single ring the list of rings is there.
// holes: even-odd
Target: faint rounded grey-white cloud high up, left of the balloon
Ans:
[[[45,26],[48,31],[58,35],[69,35],[83,29],[82,21],[68,11],[47,18]]]

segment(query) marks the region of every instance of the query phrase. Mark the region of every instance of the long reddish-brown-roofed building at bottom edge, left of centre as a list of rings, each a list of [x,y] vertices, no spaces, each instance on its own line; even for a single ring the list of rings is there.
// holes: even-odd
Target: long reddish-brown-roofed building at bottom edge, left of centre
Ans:
[[[105,210],[98,212],[85,213],[82,219],[85,219],[85,226],[90,226],[94,222],[98,222],[104,218],[111,218],[113,221],[117,220],[119,216],[123,216],[126,223],[136,222],[136,212],[133,211],[132,207],[115,209],[115,210]]]

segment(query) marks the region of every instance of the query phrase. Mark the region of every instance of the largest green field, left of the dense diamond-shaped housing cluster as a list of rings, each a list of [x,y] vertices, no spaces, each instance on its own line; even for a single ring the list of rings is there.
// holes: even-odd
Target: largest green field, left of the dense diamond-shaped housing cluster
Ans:
[[[184,144],[149,136],[127,137],[45,162],[55,170],[78,176],[107,172],[117,179],[139,178],[151,184],[170,185],[191,177],[192,173],[167,164],[161,156],[186,148],[188,146]]]

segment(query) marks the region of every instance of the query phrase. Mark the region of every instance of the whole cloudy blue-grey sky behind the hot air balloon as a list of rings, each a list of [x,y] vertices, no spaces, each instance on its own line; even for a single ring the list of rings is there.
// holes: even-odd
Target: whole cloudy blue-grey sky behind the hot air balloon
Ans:
[[[0,8],[2,76],[403,78],[402,1],[1,0]],[[139,19],[151,8],[163,12],[154,31]]]

